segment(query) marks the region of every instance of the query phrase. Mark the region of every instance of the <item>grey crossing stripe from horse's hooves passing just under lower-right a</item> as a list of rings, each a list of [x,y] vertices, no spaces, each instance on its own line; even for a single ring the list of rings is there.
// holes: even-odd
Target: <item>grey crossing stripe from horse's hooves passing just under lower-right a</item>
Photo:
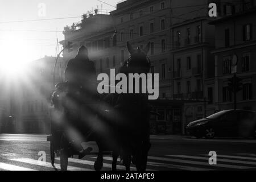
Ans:
[[[194,160],[159,158],[159,157],[153,157],[153,156],[148,156],[148,159],[163,160],[163,161],[168,161],[168,162],[176,162],[176,163],[184,163],[184,164],[197,164],[200,166],[208,166],[208,167],[223,167],[223,168],[234,168],[234,169],[250,169],[251,168],[251,167],[247,167],[247,166],[234,166],[234,165],[229,165],[229,164],[217,164],[217,166],[210,166],[210,164],[208,163],[208,160],[207,160],[207,162],[197,162]]]

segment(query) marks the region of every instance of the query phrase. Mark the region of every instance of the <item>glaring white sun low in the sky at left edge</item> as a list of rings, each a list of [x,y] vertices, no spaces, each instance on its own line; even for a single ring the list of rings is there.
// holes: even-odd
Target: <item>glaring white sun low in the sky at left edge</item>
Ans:
[[[15,77],[27,71],[33,50],[16,32],[6,33],[0,39],[0,71],[2,75]]]

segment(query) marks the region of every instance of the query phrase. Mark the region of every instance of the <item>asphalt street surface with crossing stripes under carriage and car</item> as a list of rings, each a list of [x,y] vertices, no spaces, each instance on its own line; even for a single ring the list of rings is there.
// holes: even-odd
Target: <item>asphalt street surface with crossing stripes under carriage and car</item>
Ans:
[[[151,136],[152,147],[148,157],[148,170],[256,170],[255,139],[196,139],[182,136]],[[86,143],[97,151],[96,144]],[[86,146],[85,146],[86,147]],[[217,154],[217,164],[209,164],[209,152]],[[46,154],[46,162],[38,159]],[[41,154],[41,155],[39,155]],[[49,142],[46,135],[0,134],[1,170],[55,170],[50,162]],[[69,159],[70,171],[93,170],[96,156],[78,160]],[[110,156],[104,158],[104,170],[111,169]],[[59,158],[56,166],[59,168]],[[119,170],[124,167],[119,163]],[[131,170],[134,170],[131,167]]]

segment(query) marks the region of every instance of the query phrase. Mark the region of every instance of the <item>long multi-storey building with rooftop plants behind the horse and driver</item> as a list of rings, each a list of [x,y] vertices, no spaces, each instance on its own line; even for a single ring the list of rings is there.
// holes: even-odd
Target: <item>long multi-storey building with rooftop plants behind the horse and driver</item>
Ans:
[[[217,4],[217,18],[208,16],[208,5],[212,2]],[[217,47],[224,39],[219,37],[224,25],[220,23],[218,27],[217,19],[250,9],[254,4],[251,0],[123,1],[110,13],[95,10],[83,15],[77,27],[65,28],[61,44],[67,46],[71,42],[73,49],[64,51],[64,62],[67,65],[78,48],[85,45],[97,73],[109,73],[129,57],[126,42],[141,48],[150,42],[151,72],[159,73],[160,79],[159,99],[151,103],[159,113],[158,117],[151,116],[152,133],[185,134],[188,122],[222,110],[220,105],[230,109],[231,105],[220,104],[224,96],[220,86],[216,86],[220,85],[216,69],[221,69],[218,61],[222,56]],[[217,24],[209,24],[213,20]],[[231,30],[230,27],[230,36]],[[252,52],[247,57],[251,56]],[[249,94],[251,87],[247,84],[245,92]]]

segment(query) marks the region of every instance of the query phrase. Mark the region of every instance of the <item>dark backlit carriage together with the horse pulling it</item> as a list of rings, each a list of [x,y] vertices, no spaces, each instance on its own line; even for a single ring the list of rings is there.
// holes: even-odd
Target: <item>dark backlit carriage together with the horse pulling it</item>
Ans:
[[[138,52],[134,51],[129,44],[128,49],[131,55],[137,54],[134,57],[139,57],[140,60],[130,59],[130,63],[127,61],[123,65],[126,72],[129,72],[127,68],[131,65],[146,65],[142,70],[147,73],[150,62],[146,53],[142,53],[140,49]],[[134,64],[134,61],[141,62]],[[52,106],[51,135],[47,140],[51,142],[53,167],[55,155],[60,157],[61,170],[67,170],[68,158],[73,155],[79,155],[79,158],[98,155],[94,169],[100,170],[103,155],[108,154],[113,156],[113,170],[116,170],[119,155],[127,170],[130,169],[131,162],[138,170],[146,169],[150,148],[150,109],[143,96],[137,94],[132,98],[127,94],[123,97],[109,94],[98,97],[97,94],[88,94],[82,86],[63,82],[56,85]],[[97,143],[98,152],[92,152],[90,147],[85,150],[82,148],[82,142],[90,141]]]

